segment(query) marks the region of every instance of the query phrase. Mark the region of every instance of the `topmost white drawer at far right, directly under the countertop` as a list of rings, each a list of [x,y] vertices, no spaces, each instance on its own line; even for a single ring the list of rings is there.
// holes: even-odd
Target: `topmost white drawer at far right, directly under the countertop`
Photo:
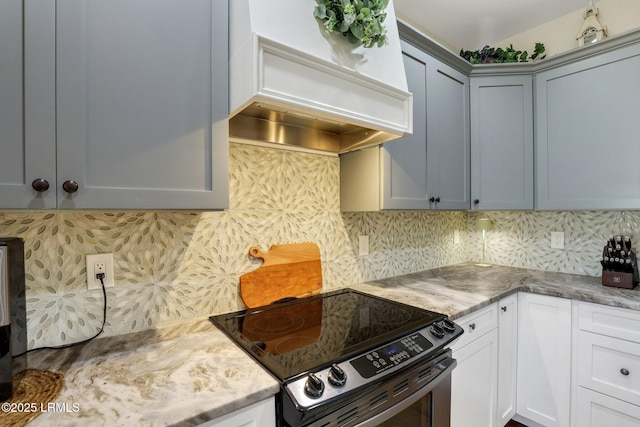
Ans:
[[[640,311],[581,302],[578,327],[640,343]]]

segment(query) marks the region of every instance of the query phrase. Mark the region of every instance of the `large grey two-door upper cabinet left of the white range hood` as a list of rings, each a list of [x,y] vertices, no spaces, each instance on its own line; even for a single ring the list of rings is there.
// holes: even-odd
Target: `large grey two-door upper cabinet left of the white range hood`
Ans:
[[[6,3],[0,208],[228,206],[227,2]]]

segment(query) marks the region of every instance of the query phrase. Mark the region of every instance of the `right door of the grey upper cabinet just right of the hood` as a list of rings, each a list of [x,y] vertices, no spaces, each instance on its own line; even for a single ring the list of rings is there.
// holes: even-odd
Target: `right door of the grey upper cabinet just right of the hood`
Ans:
[[[429,58],[427,172],[437,209],[469,209],[469,77]],[[439,200],[439,201],[438,201]]]

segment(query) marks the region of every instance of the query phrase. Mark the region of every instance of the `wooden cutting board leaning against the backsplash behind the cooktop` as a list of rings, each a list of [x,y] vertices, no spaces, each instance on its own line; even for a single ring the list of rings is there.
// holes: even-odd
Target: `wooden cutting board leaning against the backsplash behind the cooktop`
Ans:
[[[247,307],[322,291],[320,248],[315,243],[273,245],[267,252],[252,246],[249,255],[264,262],[256,270],[240,276],[240,296]]]

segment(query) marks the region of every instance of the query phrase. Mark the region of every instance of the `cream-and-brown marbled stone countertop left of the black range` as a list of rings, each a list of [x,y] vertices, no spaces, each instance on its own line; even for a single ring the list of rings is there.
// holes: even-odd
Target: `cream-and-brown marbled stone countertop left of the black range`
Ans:
[[[278,381],[208,319],[28,355],[29,368],[64,373],[56,402],[32,426],[192,426],[267,399]]]

